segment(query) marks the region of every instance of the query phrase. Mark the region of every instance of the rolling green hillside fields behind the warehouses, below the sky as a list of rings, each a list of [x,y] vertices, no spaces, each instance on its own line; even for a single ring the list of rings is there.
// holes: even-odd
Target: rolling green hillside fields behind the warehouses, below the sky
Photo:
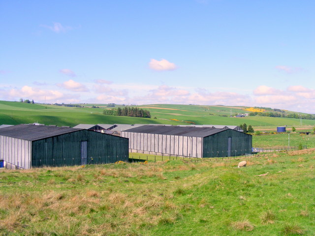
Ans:
[[[46,104],[0,101],[0,124],[43,123],[46,125],[75,126],[79,123],[160,123],[160,124],[251,124],[260,129],[276,126],[314,126],[315,120],[274,118],[262,116],[230,117],[230,114],[249,113],[245,107],[155,104],[137,106],[150,111],[151,118],[117,117],[103,115],[107,104],[80,104],[82,107],[66,107]],[[96,108],[92,108],[95,106]],[[307,127],[306,127],[307,128]],[[310,127],[309,127],[310,128]]]

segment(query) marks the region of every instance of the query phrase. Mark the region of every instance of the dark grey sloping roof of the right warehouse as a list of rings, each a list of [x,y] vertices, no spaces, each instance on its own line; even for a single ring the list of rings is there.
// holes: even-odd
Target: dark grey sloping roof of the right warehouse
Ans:
[[[177,136],[191,136],[191,137],[207,137],[228,128],[212,128],[212,127],[194,127],[194,126],[160,126],[160,125],[143,125],[133,129],[127,129],[126,132],[147,133],[147,134],[167,134]]]

